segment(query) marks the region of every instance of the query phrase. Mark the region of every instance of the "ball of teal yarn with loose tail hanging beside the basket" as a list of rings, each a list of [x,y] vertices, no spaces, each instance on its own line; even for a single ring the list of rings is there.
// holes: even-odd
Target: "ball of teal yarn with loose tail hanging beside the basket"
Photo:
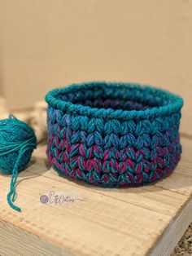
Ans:
[[[33,149],[37,147],[37,139],[33,129],[14,116],[0,121],[0,171],[12,174],[11,188],[7,195],[9,205],[15,210],[15,183],[18,172],[24,170],[30,161]]]

